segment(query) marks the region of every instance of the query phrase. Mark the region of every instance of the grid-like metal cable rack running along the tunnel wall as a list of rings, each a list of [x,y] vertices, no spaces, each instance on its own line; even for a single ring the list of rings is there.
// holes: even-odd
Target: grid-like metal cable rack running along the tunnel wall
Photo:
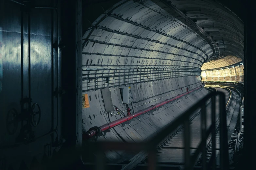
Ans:
[[[189,67],[83,68],[83,92],[200,74],[200,69]]]

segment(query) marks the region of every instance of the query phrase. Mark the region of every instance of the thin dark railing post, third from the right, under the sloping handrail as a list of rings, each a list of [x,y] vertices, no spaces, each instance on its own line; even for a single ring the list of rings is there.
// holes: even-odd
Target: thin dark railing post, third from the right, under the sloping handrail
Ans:
[[[202,169],[206,170],[206,106],[201,106],[201,136],[202,136]]]

